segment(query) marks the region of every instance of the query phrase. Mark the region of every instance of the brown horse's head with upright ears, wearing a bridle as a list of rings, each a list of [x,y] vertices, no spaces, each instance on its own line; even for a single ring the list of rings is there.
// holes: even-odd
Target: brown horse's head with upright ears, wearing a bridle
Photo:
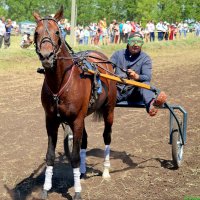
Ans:
[[[34,34],[36,53],[45,69],[53,68],[62,46],[62,35],[58,22],[63,18],[63,7],[54,17],[41,18],[36,12],[33,16],[37,23]]]

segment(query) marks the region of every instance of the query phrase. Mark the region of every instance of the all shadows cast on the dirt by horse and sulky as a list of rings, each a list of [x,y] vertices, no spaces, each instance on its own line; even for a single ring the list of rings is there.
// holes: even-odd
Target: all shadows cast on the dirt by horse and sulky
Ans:
[[[104,150],[95,148],[87,151],[87,157],[93,156],[103,159]],[[161,167],[166,169],[175,169],[173,167],[172,161],[164,160],[160,158],[150,158],[143,159],[142,162],[135,163],[133,162],[134,155],[127,154],[125,151],[111,151],[112,159],[121,159],[128,167],[123,169],[114,170],[111,173],[117,173],[122,171],[127,171],[135,168],[145,168],[145,167],[155,167],[156,166],[142,166],[141,164],[148,162],[149,160],[156,160],[160,163]],[[87,175],[84,177],[88,179],[92,176],[101,176],[102,171],[95,169],[95,165],[88,164],[87,166]],[[29,177],[23,179],[19,182],[13,189],[9,189],[6,185],[5,188],[10,194],[11,199],[13,200],[26,200],[32,193],[40,193],[41,196],[42,186],[45,179],[45,162],[42,163]],[[72,200],[71,195],[69,195],[68,190],[73,186],[73,173],[71,165],[67,162],[64,154],[59,153],[59,156],[56,158],[54,166],[54,175],[52,180],[52,189],[49,191],[49,194],[52,192],[61,194],[68,200]],[[40,199],[40,197],[33,198],[34,200]]]

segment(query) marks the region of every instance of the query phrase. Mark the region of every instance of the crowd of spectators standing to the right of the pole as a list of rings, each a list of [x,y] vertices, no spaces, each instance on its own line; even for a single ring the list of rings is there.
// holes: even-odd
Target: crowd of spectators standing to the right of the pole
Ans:
[[[145,26],[142,26],[139,22],[113,20],[107,25],[106,18],[104,18],[98,23],[90,23],[85,27],[77,26],[75,36],[77,44],[107,45],[127,43],[129,35],[134,32],[140,32],[146,42],[154,42],[156,39],[162,41],[174,40],[177,37],[186,38],[189,31],[186,21],[171,24],[162,20],[158,23],[149,21]],[[200,36],[200,22],[195,23],[194,31],[196,36]]]

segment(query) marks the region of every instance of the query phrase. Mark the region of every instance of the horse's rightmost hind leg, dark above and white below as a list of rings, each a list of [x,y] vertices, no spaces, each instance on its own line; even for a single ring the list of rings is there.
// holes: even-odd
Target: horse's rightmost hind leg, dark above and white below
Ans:
[[[104,150],[104,169],[103,169],[103,178],[108,180],[110,179],[110,143],[111,143],[111,133],[113,125],[114,111],[104,113],[104,123],[105,128],[103,132],[105,150]]]

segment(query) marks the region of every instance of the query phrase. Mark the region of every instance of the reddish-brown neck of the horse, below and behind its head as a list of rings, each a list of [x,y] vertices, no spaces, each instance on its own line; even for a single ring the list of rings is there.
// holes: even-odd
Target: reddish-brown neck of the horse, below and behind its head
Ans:
[[[70,59],[71,55],[65,45],[62,45],[57,57],[59,59],[57,59],[54,68],[45,71],[45,81],[54,94],[58,93],[66,84],[73,66],[73,60]]]

